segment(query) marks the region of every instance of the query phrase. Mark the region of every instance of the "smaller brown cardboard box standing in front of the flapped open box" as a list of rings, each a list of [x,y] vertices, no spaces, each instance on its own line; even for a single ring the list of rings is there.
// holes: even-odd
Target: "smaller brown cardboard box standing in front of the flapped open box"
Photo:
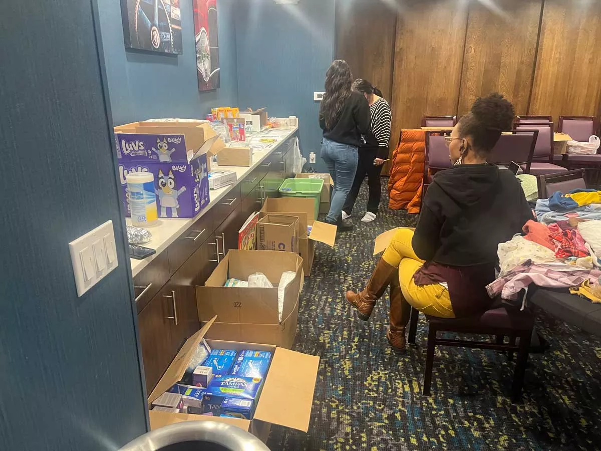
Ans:
[[[297,216],[263,216],[257,222],[258,250],[298,253],[298,222]]]

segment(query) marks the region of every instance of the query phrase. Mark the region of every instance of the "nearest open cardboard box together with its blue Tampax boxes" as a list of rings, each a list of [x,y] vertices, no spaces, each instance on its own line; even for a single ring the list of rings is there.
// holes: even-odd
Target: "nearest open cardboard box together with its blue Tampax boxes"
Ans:
[[[216,318],[184,343],[148,397],[151,429],[210,420],[237,426],[263,441],[267,441],[272,424],[307,432],[319,357],[273,345],[205,339]],[[213,376],[206,388],[181,382],[189,367],[198,362],[199,348],[202,355],[209,348],[237,355],[228,373]],[[181,399],[166,399],[165,393]]]

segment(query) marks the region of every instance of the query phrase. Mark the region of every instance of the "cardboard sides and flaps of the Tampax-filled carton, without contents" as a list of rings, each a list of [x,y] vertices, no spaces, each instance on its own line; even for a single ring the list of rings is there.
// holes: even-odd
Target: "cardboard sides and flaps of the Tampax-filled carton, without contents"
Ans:
[[[261,253],[261,251],[250,252]],[[184,343],[182,349],[166,370],[165,375],[148,397],[149,405],[182,378],[189,360],[194,355],[194,350],[207,332],[212,329],[215,320],[216,318],[212,318],[200,331]],[[272,424],[304,432],[308,431],[319,357],[289,351],[273,345],[234,341],[222,342],[219,340],[207,341],[213,348],[236,349],[237,351],[255,349],[257,351],[273,352],[269,373],[267,373],[267,378],[264,381],[254,418],[243,420],[150,411],[151,429],[159,429],[163,426],[186,421],[213,421],[237,426],[244,431],[251,432],[263,441],[267,441]]]

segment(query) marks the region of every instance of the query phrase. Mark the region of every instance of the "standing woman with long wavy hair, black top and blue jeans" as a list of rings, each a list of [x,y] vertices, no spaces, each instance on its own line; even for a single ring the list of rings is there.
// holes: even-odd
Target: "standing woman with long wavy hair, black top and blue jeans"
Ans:
[[[340,232],[352,230],[342,221],[342,207],[355,179],[359,146],[370,132],[370,107],[361,93],[352,91],[353,75],[343,60],[336,60],[326,73],[326,93],[319,108],[323,130],[322,158],[334,181],[326,222]]]

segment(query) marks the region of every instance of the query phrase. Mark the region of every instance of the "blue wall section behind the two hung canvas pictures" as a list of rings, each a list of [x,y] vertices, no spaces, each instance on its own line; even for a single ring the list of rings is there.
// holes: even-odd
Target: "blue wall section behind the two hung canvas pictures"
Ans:
[[[120,0],[99,0],[100,31],[115,125],[152,117],[203,118],[216,106],[238,104],[236,32],[239,0],[218,0],[221,88],[200,93],[192,0],[182,0],[182,55],[125,49]]]

